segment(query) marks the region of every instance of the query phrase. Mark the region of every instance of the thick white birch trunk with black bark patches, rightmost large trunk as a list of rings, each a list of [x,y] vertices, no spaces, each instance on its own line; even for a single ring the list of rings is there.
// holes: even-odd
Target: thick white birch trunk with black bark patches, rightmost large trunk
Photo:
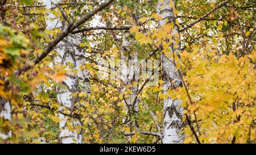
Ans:
[[[167,19],[168,23],[174,22],[174,28],[172,30],[173,37],[171,38],[175,43],[177,39],[177,33],[179,33],[179,27],[176,24],[176,15],[174,10],[170,7],[170,3],[175,7],[175,1],[164,0],[158,1],[156,7],[159,15],[162,16],[162,20],[159,22],[159,26],[163,26]],[[176,36],[175,36],[176,35]],[[178,35],[179,36],[179,35]],[[175,49],[173,44],[170,45],[170,51],[173,53],[178,52],[179,49]],[[175,72],[176,66],[174,62],[167,58],[164,53],[162,53],[162,77],[164,81],[163,93],[167,93],[169,89],[174,89],[175,87],[182,86],[181,78],[178,72]],[[177,99],[172,99],[168,97],[164,99],[164,120],[163,120],[163,139],[164,144],[174,144],[183,143],[184,136],[180,134],[180,129],[182,128],[182,115],[183,109],[181,108],[180,101]]]

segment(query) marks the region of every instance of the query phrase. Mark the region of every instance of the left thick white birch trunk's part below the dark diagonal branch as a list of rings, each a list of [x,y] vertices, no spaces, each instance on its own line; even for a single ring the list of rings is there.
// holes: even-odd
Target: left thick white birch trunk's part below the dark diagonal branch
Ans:
[[[63,65],[68,65],[71,63],[72,69],[77,67],[76,64],[76,47],[73,43],[73,38],[68,36],[66,39],[61,41],[59,45],[56,47],[56,51],[59,52],[60,56],[56,58],[57,63],[61,63]],[[72,73],[72,69],[67,67],[67,72]],[[61,104],[61,111],[64,113],[70,113],[75,110],[78,106],[75,106],[77,103],[77,98],[73,97],[73,93],[79,92],[79,77],[76,74],[72,73],[72,75],[67,76],[67,78],[63,81],[64,85],[67,89],[57,88],[57,100]],[[60,120],[60,140],[61,143],[70,144],[70,143],[82,143],[82,135],[80,129],[75,129],[76,126],[81,126],[79,120],[75,118],[68,118],[63,114],[59,114]]]

